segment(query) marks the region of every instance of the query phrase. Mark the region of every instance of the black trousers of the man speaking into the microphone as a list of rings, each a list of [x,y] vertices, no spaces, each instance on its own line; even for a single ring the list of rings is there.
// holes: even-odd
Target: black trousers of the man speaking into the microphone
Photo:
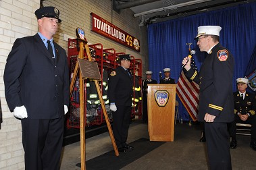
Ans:
[[[227,123],[205,122],[205,137],[210,169],[232,169]]]

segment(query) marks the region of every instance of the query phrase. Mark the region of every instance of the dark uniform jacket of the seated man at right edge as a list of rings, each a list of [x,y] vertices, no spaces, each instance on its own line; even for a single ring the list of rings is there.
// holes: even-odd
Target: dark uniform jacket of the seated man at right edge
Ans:
[[[234,114],[241,113],[245,115],[255,115],[256,99],[255,94],[245,92],[245,98],[242,100],[238,91],[234,92]]]

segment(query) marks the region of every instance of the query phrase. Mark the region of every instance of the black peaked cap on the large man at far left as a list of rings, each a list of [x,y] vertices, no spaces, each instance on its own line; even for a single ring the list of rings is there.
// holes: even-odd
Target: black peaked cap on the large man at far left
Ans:
[[[37,9],[34,14],[36,14],[37,20],[47,17],[47,18],[56,18],[58,19],[59,23],[61,20],[59,19],[59,9],[55,7],[41,7]]]

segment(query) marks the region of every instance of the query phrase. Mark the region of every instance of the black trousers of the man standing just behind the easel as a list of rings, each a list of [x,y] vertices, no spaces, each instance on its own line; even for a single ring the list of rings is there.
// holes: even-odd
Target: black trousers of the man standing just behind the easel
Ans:
[[[126,145],[128,129],[130,125],[131,106],[117,105],[117,111],[113,111],[113,135],[118,148]]]

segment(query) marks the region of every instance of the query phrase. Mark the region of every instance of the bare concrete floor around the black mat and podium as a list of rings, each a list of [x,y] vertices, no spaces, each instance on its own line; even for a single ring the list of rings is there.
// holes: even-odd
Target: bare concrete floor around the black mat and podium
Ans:
[[[139,138],[149,138],[147,124],[134,121],[130,124],[127,142],[130,143]],[[199,138],[201,138],[200,125],[177,123],[174,142],[165,142],[122,169],[208,169],[206,144],[199,142]],[[236,138],[238,146],[230,150],[232,169],[256,169],[256,152],[249,147],[251,137],[239,135]],[[110,150],[113,150],[113,146],[108,132],[86,139],[86,161]],[[122,154],[124,153],[120,153],[119,157],[122,157]],[[80,142],[64,146],[61,170],[80,169],[76,167],[77,163],[80,163]]]

